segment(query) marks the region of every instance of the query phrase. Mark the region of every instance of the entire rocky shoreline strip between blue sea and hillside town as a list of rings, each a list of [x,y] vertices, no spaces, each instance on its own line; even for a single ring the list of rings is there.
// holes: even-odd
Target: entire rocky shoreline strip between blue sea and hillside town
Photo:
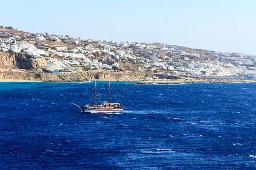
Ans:
[[[114,73],[114,72],[93,72],[86,71],[80,74],[49,74],[49,73],[28,73],[28,72],[12,72],[0,71],[0,82],[87,82],[90,80],[105,81],[125,81],[129,80],[129,84],[186,84],[186,83],[247,83],[255,82],[254,80],[144,80],[144,78],[152,78],[148,73]]]

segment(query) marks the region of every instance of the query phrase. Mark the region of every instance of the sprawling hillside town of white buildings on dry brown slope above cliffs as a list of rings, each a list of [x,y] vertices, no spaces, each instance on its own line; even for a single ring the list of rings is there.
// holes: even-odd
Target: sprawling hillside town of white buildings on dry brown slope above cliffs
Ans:
[[[50,32],[28,33],[3,25],[0,25],[0,52],[24,53],[45,60],[46,64],[36,70],[39,73],[146,72],[165,78],[256,75],[256,56],[241,53],[161,43],[91,40]]]

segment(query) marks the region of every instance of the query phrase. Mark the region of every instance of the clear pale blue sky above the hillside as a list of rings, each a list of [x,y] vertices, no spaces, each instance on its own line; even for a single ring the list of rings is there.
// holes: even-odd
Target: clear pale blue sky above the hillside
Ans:
[[[0,0],[0,25],[256,55],[256,0]]]

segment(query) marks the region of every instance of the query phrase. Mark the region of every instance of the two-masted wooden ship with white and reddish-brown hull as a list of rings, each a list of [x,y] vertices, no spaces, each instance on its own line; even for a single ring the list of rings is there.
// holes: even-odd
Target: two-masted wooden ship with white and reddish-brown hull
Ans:
[[[109,96],[110,96],[110,82],[109,82]],[[108,102],[102,103],[100,105],[96,105],[96,101],[95,97],[96,97],[96,81],[94,82],[94,97],[93,97],[93,105],[77,105],[77,104],[73,104],[76,105],[77,107],[79,107],[83,113],[119,113],[121,111],[123,111],[123,108],[120,106],[119,103],[109,103],[109,96],[108,96]],[[100,96],[98,96],[100,97]]]

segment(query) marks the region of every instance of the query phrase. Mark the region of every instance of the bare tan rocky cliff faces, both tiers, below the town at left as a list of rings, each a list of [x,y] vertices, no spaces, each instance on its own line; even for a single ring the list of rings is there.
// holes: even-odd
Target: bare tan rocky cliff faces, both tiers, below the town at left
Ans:
[[[0,53],[0,68],[25,69],[41,71],[47,65],[45,59],[33,58],[21,53]],[[86,80],[136,80],[141,79],[146,73],[115,73],[115,72],[90,72],[81,74],[43,74],[0,71],[0,80],[33,80],[42,82],[85,82]],[[149,75],[147,75],[149,76]],[[150,75],[151,77],[152,75]]]

